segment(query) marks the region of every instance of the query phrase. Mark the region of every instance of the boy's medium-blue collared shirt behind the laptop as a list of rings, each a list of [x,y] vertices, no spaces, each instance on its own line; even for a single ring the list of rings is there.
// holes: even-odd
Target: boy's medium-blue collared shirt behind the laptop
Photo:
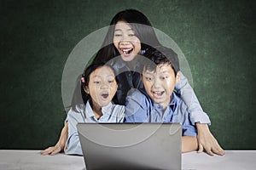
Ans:
[[[146,92],[135,90],[126,98],[125,122],[180,122],[183,124],[183,136],[196,137],[188,106],[175,93],[172,93],[171,99],[166,111],[163,111],[162,105],[154,103]]]

